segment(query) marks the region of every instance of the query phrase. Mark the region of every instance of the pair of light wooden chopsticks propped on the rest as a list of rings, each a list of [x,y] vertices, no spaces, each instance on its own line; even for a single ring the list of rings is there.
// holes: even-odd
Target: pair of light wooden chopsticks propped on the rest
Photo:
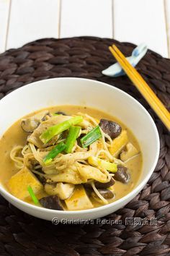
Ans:
[[[109,51],[111,51],[112,55],[119,62],[120,66],[128,75],[135,87],[138,88],[146,101],[148,101],[151,108],[153,108],[158,117],[170,131],[170,112],[165,108],[163,103],[161,103],[156,94],[153,93],[153,90],[151,90],[143,77],[141,77],[138,71],[125,58],[122,52],[115,45],[109,46]]]

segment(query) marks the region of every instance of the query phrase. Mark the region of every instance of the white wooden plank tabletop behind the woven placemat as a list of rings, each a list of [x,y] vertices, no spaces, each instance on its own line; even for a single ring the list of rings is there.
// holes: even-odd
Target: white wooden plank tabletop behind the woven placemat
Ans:
[[[170,0],[0,0],[0,52],[29,41],[94,35],[170,53]]]

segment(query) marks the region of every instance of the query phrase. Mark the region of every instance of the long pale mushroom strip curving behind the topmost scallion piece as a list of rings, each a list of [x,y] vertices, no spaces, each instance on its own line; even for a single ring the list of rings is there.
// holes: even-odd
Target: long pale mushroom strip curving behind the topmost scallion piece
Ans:
[[[48,119],[47,121],[42,121],[39,127],[37,127],[37,129],[35,129],[34,132],[32,132],[32,135],[30,135],[30,137],[28,137],[28,142],[31,142],[38,148],[42,148],[43,143],[40,140],[40,135],[42,134],[42,132],[45,132],[45,130],[48,129],[48,127],[52,127],[55,124],[60,124],[68,119],[71,119],[71,116],[58,115],[50,117],[50,119]]]

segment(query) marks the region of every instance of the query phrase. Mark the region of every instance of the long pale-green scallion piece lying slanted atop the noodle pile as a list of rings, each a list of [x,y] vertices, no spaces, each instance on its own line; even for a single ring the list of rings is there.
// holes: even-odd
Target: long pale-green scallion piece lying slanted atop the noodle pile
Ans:
[[[45,132],[40,135],[40,140],[44,144],[48,143],[55,135],[59,135],[61,132],[66,131],[72,125],[76,125],[83,121],[82,116],[74,116],[67,121],[63,121],[61,124],[55,124],[53,127],[49,127]]]

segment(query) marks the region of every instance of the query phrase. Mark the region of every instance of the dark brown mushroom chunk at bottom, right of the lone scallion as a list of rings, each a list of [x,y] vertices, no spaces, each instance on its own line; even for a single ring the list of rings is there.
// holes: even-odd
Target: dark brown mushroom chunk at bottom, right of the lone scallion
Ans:
[[[40,204],[48,209],[63,210],[63,206],[61,205],[61,201],[59,200],[57,195],[42,197],[40,199]]]

